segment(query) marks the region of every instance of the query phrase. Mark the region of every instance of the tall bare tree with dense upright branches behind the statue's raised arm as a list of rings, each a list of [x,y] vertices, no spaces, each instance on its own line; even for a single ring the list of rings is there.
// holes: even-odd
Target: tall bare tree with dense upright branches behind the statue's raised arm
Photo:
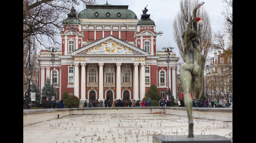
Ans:
[[[176,14],[173,21],[173,37],[176,42],[179,54],[181,55],[181,59],[184,61],[183,57],[183,39],[181,35],[187,29],[186,24],[191,20],[193,15],[193,9],[195,6],[199,4],[198,0],[181,0],[180,2],[180,11]],[[200,14],[200,16],[199,16]],[[211,39],[212,39],[212,27],[209,15],[205,10],[205,7],[202,6],[199,8],[197,17],[200,17],[203,21],[204,25],[198,31],[198,37],[200,42],[200,55],[207,57],[207,54],[211,47]],[[199,27],[199,26],[198,26]]]

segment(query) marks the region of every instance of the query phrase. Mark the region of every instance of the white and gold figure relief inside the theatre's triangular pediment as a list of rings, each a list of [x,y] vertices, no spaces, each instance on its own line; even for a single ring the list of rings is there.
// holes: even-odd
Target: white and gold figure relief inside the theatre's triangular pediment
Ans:
[[[121,54],[132,54],[132,50],[129,47],[121,46],[112,40],[103,42],[99,46],[91,47],[87,50],[87,54],[109,54],[109,53],[121,53]]]

